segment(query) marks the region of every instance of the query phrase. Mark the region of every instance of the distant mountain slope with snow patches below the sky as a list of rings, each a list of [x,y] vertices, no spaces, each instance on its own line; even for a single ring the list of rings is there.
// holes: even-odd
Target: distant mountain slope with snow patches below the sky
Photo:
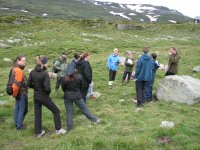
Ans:
[[[135,22],[185,22],[191,18],[163,6],[117,4],[93,0],[0,0],[1,15]]]

